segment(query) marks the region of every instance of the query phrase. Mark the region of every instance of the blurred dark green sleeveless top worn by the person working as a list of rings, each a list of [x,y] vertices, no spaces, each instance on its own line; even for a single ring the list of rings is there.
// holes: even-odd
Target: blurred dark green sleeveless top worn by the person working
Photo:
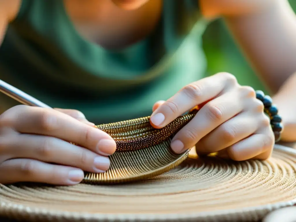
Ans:
[[[151,35],[107,50],[76,32],[62,0],[22,0],[0,48],[0,79],[96,124],[150,115],[157,100],[204,77],[206,25],[197,0],[164,0]],[[0,100],[2,109],[17,104]]]

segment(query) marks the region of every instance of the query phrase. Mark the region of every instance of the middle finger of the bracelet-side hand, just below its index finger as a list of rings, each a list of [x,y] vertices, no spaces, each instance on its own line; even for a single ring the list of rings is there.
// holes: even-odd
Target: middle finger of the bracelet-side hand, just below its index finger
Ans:
[[[190,149],[205,135],[243,110],[239,96],[232,92],[223,94],[205,104],[194,118],[172,139],[171,148],[176,153]]]

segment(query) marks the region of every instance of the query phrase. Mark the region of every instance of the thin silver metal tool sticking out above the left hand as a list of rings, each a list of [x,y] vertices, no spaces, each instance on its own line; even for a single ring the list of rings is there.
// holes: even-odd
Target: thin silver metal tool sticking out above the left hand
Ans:
[[[25,92],[21,91],[20,89],[15,88],[12,85],[2,81],[0,79],[0,92],[4,93],[5,95],[15,99],[16,101],[28,105],[28,106],[37,106],[43,108],[52,108],[45,103],[35,99],[34,97],[26,94]]]

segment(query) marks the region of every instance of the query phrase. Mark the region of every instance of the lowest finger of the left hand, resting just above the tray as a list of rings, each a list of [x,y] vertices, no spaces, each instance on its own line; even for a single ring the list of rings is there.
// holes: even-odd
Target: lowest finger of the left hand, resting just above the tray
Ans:
[[[83,180],[81,169],[43,163],[31,159],[6,160],[0,165],[0,183],[38,182],[54,185],[74,185]]]

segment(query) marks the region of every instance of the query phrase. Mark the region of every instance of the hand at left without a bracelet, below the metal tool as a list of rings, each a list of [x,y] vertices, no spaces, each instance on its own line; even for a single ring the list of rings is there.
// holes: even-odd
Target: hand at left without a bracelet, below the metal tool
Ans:
[[[115,149],[115,141],[77,110],[19,105],[0,115],[1,184],[78,184],[83,170],[106,171],[106,156]]]

